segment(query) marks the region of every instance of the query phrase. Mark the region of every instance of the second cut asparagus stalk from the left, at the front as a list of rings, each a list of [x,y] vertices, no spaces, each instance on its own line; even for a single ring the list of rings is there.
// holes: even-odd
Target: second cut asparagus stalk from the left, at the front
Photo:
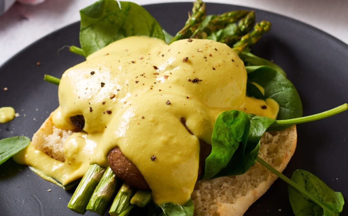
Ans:
[[[100,182],[90,198],[87,210],[104,215],[108,203],[116,192],[117,178],[111,168],[106,168]]]

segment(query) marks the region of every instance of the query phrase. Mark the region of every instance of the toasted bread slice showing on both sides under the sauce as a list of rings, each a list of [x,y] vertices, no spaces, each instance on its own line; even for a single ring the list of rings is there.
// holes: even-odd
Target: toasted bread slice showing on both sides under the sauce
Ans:
[[[50,157],[64,161],[64,142],[73,133],[56,128],[51,114],[34,134],[32,145]],[[295,152],[296,141],[295,126],[283,131],[267,132],[261,138],[259,156],[282,172]],[[277,176],[256,163],[240,176],[199,181],[191,195],[195,215],[242,216],[276,179]]]

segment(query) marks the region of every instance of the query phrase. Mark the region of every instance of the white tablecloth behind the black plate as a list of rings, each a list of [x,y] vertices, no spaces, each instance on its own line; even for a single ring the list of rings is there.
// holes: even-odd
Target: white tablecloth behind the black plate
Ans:
[[[0,16],[0,65],[32,42],[80,19],[79,9],[95,0],[46,0],[37,6],[15,3]],[[140,5],[193,0],[133,0]],[[258,8],[298,19],[348,44],[347,0],[206,0]]]

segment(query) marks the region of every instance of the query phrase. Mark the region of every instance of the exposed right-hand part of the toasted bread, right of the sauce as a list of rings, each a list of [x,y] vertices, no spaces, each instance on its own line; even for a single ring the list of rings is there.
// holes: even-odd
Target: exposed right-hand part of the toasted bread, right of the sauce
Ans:
[[[296,127],[265,133],[259,156],[282,172],[295,152]],[[202,180],[196,183],[191,198],[199,216],[242,216],[277,179],[259,163],[245,174]]]

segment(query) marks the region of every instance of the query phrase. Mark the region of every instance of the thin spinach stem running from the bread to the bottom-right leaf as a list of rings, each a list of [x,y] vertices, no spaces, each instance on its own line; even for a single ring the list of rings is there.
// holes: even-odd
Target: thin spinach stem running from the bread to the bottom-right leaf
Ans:
[[[295,190],[299,191],[300,193],[302,193],[302,195],[304,195],[305,197],[307,197],[308,199],[310,199],[311,201],[315,202],[317,205],[322,206],[327,209],[330,209],[329,207],[327,207],[325,205],[325,203],[321,202],[320,200],[318,200],[317,198],[315,198],[312,194],[310,194],[309,192],[307,192],[305,189],[303,189],[302,187],[300,187],[298,184],[296,184],[294,181],[292,181],[290,178],[286,177],[285,175],[283,175],[282,173],[280,173],[278,170],[276,170],[274,167],[272,167],[271,165],[269,165],[266,161],[264,161],[262,158],[260,158],[259,156],[256,158],[256,161],[258,161],[262,166],[264,166],[265,168],[267,168],[269,171],[271,171],[272,173],[274,173],[276,176],[278,176],[280,179],[282,179],[284,182],[286,182],[287,184],[289,184],[290,186],[292,186]]]

